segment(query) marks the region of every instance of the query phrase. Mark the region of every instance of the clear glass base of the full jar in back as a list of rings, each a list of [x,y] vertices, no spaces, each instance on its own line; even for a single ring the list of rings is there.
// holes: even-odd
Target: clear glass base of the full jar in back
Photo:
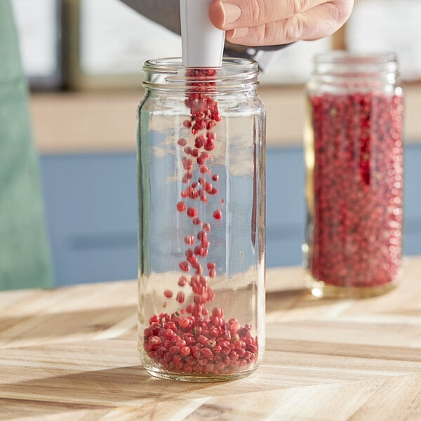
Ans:
[[[370,298],[382,295],[393,290],[397,286],[396,281],[384,283],[379,286],[335,286],[319,281],[311,274],[305,274],[305,287],[316,298]]]

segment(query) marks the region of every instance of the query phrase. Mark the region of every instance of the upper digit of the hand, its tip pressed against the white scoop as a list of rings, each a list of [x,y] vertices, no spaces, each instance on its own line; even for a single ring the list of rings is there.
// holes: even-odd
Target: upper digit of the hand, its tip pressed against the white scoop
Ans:
[[[290,18],[326,0],[214,0],[209,17],[220,29],[264,25]]]

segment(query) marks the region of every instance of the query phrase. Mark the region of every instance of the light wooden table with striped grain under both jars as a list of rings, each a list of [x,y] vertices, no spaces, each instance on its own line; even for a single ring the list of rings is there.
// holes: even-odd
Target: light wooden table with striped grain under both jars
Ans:
[[[135,281],[0,293],[0,419],[421,420],[421,258],[377,298],[301,285],[268,270],[262,366],[201,385],[140,366]]]

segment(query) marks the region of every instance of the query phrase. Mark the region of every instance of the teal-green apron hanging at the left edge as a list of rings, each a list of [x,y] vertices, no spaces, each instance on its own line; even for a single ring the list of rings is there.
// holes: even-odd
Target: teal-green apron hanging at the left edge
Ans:
[[[52,285],[27,84],[9,0],[0,0],[0,290]]]

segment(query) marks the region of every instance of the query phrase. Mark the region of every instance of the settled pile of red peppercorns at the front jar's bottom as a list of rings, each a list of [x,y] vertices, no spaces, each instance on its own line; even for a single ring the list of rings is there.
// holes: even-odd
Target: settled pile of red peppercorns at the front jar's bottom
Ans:
[[[174,373],[231,374],[252,368],[258,359],[250,326],[226,321],[218,307],[209,317],[155,314],[145,329],[144,347],[155,363]]]

